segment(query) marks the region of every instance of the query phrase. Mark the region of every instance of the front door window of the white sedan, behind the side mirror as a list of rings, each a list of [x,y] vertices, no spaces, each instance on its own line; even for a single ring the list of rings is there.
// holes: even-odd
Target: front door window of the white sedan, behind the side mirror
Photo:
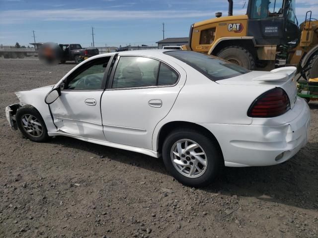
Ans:
[[[93,60],[81,66],[79,71],[68,77],[64,90],[98,90],[101,89],[104,71],[110,57]]]

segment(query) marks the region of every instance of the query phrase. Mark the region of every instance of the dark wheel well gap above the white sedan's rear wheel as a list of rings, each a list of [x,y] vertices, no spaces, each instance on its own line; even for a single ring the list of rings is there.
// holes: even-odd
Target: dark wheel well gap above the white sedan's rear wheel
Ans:
[[[212,134],[212,132],[209,131],[207,128],[205,128],[202,125],[198,125],[196,123],[192,123],[192,122],[188,122],[188,121],[171,121],[171,122],[168,122],[162,126],[162,128],[160,129],[160,132],[159,132],[159,136],[158,136],[158,147],[157,147],[158,152],[161,152],[164,139],[167,137],[167,135],[171,131],[173,131],[174,129],[180,128],[180,127],[195,129],[195,130],[199,131],[200,133],[211,138],[216,143],[216,145],[219,148],[219,151],[223,157],[221,146],[220,146],[217,138]]]

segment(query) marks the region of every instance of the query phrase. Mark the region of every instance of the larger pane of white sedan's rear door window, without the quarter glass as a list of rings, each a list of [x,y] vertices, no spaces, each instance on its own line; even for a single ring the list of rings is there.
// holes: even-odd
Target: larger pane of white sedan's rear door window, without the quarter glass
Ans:
[[[112,88],[156,86],[159,61],[146,57],[121,57]]]

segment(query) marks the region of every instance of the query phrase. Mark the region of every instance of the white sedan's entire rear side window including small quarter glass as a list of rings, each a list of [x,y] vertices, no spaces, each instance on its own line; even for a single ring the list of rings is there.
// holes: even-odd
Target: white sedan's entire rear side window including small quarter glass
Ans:
[[[146,57],[119,59],[112,88],[134,88],[174,84],[178,74],[166,64]]]

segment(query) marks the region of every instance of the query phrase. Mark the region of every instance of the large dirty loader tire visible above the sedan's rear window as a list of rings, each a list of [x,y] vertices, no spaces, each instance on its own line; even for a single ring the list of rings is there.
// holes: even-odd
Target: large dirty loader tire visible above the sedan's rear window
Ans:
[[[248,70],[254,70],[255,68],[255,60],[252,54],[239,46],[226,47],[217,54],[217,57],[238,64]]]

